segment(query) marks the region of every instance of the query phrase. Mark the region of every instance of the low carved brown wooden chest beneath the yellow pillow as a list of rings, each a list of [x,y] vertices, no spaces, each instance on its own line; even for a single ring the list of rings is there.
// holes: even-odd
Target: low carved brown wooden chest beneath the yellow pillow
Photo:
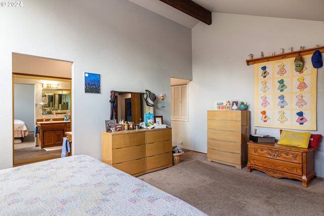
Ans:
[[[290,178],[302,181],[303,187],[315,176],[315,148],[299,148],[277,143],[248,142],[248,171],[252,168],[276,178]]]

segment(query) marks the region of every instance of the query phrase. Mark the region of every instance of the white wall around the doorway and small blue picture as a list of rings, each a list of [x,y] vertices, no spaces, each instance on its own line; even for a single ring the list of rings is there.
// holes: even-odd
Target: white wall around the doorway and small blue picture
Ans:
[[[170,95],[171,76],[192,78],[191,30],[126,0],[30,0],[1,9],[0,32],[0,169],[13,163],[13,52],[73,62],[73,154],[97,159],[110,90]],[[101,94],[84,93],[85,72],[101,75]],[[170,102],[155,113],[171,124]]]

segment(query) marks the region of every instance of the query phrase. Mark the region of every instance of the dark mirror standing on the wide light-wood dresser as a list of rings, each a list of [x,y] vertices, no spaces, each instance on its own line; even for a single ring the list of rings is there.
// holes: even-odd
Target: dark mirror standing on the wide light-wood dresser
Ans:
[[[117,122],[124,119],[124,121],[133,121],[138,124],[144,121],[145,108],[143,105],[143,93],[140,92],[123,92],[111,91],[115,93],[115,119]]]

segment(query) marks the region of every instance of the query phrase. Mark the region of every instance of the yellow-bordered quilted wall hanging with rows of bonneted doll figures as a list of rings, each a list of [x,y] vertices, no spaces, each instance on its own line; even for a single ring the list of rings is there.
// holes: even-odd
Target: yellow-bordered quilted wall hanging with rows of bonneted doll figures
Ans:
[[[254,125],[316,131],[312,55],[254,64]]]

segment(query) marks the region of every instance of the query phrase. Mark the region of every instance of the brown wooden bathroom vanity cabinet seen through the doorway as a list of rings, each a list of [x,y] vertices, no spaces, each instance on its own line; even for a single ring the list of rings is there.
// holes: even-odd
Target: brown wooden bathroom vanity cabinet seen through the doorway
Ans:
[[[39,129],[38,146],[42,149],[61,146],[65,132],[71,131],[70,121],[37,121],[36,123]]]

